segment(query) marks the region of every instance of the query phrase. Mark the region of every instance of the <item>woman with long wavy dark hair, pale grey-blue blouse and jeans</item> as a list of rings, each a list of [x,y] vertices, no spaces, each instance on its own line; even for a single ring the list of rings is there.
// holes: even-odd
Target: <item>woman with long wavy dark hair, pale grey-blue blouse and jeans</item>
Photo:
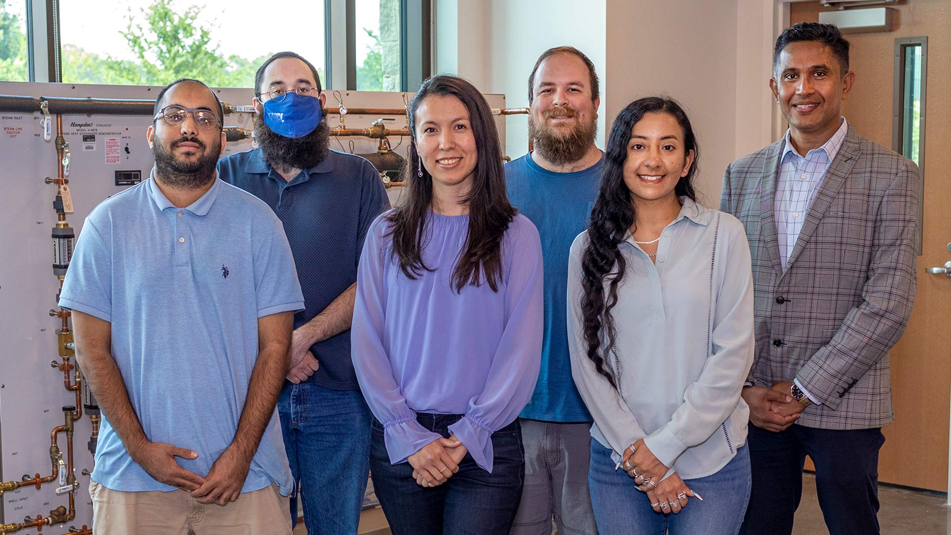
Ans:
[[[749,247],[739,221],[696,203],[697,156],[674,101],[632,102],[572,246],[568,332],[601,535],[735,534],[746,511]]]

